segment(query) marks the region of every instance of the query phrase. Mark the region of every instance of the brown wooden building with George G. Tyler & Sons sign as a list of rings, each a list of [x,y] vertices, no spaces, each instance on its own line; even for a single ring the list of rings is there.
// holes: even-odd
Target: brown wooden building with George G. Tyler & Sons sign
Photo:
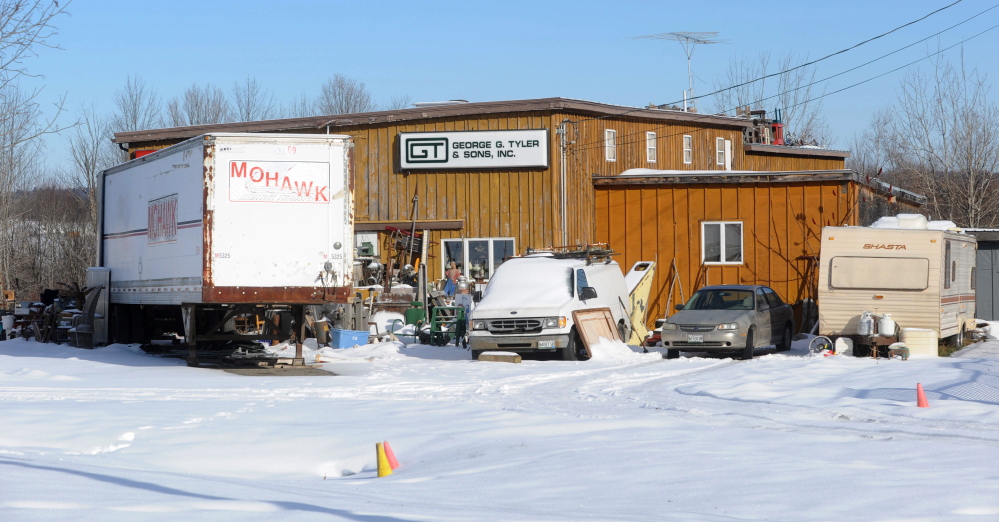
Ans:
[[[606,242],[622,266],[659,261],[651,322],[680,302],[680,286],[686,297],[707,283],[761,283],[792,303],[814,298],[823,225],[921,204],[845,170],[847,152],[767,143],[769,130],[748,116],[544,98],[151,129],[115,142],[134,158],[211,132],[350,135],[355,246],[387,262],[387,227],[415,219],[431,279],[454,261],[488,280],[527,247]]]

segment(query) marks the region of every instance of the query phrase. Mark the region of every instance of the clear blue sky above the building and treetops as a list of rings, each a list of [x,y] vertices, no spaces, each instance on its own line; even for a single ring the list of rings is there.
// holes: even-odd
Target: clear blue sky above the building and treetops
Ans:
[[[61,51],[28,63],[43,102],[66,95],[110,111],[130,74],[161,98],[192,83],[228,91],[247,75],[279,101],[318,93],[335,73],[364,82],[377,103],[512,100],[562,96],[644,106],[682,98],[686,56],[675,42],[632,37],[717,31],[725,45],[697,47],[695,88],[708,92],[736,55],[794,52],[818,58],[915,20],[953,0],[840,2],[76,0],[58,21]],[[986,8],[964,0],[926,20],[817,65],[823,77],[929,36]],[[939,39],[948,46],[999,24],[999,8]],[[925,56],[936,43],[900,52],[836,78],[827,91]],[[964,60],[996,76],[999,29],[964,46]],[[946,53],[960,59],[960,51]],[[891,104],[902,72],[825,98],[838,148],[848,147],[878,109]],[[64,116],[70,123],[72,114]],[[50,138],[55,163],[64,142]]]

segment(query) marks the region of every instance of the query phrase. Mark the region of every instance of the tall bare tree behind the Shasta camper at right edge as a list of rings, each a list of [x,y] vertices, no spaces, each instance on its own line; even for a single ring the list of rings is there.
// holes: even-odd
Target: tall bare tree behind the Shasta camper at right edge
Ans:
[[[937,58],[930,72],[905,76],[897,104],[867,131],[885,170],[926,195],[934,218],[999,225],[999,108],[988,93],[984,76]]]

